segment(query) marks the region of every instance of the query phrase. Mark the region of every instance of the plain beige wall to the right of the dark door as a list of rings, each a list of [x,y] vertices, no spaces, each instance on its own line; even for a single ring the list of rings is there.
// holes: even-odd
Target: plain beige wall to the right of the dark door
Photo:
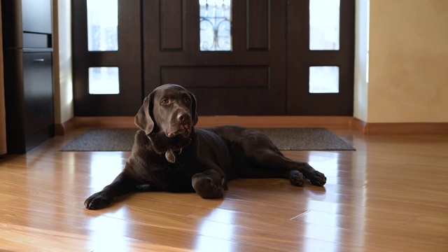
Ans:
[[[370,0],[368,123],[448,122],[447,31],[447,0]]]

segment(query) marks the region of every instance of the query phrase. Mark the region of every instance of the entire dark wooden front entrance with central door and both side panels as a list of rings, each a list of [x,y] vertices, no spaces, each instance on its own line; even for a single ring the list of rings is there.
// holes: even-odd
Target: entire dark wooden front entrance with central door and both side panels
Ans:
[[[116,50],[87,49],[89,1],[118,1]],[[134,116],[164,83],[191,90],[202,116],[352,116],[354,2],[73,1],[75,116]],[[89,91],[116,71],[116,93]]]

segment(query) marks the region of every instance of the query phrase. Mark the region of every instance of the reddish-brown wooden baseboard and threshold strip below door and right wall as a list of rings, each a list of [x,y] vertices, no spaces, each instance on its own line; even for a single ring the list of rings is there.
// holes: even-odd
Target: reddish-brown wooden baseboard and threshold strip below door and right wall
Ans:
[[[448,123],[366,123],[353,116],[200,116],[196,127],[241,125],[245,127],[327,127],[363,134],[448,134]],[[134,116],[74,117],[55,125],[64,135],[78,127],[136,127]]]

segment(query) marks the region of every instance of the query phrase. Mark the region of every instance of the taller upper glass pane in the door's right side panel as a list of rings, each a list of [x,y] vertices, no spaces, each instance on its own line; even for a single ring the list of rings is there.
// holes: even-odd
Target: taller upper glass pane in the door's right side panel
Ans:
[[[309,50],[339,50],[339,0],[309,0]]]

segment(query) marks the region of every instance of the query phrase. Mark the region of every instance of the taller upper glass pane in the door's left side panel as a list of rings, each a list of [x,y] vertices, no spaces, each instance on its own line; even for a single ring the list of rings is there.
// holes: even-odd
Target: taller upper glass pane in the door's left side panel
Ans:
[[[118,50],[118,0],[87,0],[89,51]]]

